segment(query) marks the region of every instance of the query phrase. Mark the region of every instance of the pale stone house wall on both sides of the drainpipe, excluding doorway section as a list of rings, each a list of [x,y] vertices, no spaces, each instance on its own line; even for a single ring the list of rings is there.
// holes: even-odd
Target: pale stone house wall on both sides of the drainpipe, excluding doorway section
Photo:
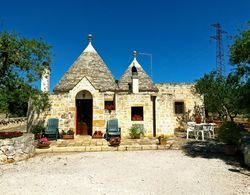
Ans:
[[[195,105],[203,105],[202,97],[192,92],[193,84],[156,84],[156,86],[159,89],[158,93],[128,94],[120,92],[116,94],[114,115],[119,120],[123,136],[128,136],[129,128],[133,124],[143,124],[145,135],[153,135],[152,95],[156,95],[156,136],[174,134],[174,129],[178,128],[178,115],[174,112],[176,101],[184,102],[185,111],[193,111]],[[131,107],[133,106],[143,107],[143,121],[131,120]]]

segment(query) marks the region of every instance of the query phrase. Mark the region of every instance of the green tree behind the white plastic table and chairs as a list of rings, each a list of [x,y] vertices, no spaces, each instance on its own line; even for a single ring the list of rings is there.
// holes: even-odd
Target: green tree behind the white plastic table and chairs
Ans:
[[[241,88],[234,76],[224,77],[216,72],[205,74],[195,85],[196,92],[204,96],[206,110],[231,121],[241,113]]]

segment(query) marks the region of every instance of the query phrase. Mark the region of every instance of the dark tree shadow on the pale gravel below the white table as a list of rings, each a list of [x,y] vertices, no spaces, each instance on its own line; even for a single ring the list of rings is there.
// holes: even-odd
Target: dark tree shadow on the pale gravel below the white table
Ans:
[[[224,154],[224,144],[210,140],[210,141],[189,141],[182,145],[182,151],[190,157],[201,157],[208,159],[221,159],[226,164],[233,165],[235,169],[229,171],[240,172],[240,168],[249,170],[244,165],[244,159],[242,154],[235,156],[228,156]]]

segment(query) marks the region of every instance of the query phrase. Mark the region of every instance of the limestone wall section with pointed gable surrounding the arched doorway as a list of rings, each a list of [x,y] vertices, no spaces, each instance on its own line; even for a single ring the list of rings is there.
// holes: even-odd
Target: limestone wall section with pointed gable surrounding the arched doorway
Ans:
[[[84,77],[68,93],[50,95],[51,109],[46,113],[45,123],[49,118],[59,119],[59,130],[72,129],[76,131],[76,96],[81,91],[88,91],[93,99],[93,133],[104,131],[106,126],[104,110],[104,92],[99,92]],[[40,117],[42,118],[42,116]]]

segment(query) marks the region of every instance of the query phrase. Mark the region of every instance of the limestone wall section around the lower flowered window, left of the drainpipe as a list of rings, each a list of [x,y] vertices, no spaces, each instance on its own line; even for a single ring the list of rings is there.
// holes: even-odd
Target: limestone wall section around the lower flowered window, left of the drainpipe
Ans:
[[[143,107],[143,121],[131,120],[131,107]],[[145,135],[153,133],[153,109],[151,101],[151,93],[118,93],[116,94],[116,117],[119,120],[122,136],[129,135],[129,129],[132,124],[143,124]]]

